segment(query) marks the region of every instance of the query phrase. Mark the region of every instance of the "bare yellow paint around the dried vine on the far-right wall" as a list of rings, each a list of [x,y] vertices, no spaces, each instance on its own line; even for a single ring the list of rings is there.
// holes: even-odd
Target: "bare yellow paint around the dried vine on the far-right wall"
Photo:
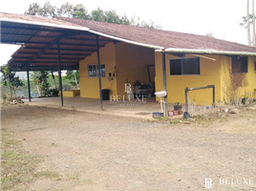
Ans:
[[[245,81],[247,81],[246,86],[239,87],[234,96],[228,96],[228,92],[230,92],[229,87],[234,87],[230,80],[230,72],[231,72],[231,58],[227,56],[222,56],[222,75],[221,75],[221,83],[222,83],[222,100],[229,101],[233,98],[241,97],[243,95],[251,96],[256,89],[256,73],[254,71],[254,62],[256,62],[255,56],[248,57],[248,73],[242,76],[245,76]],[[237,79],[240,79],[240,74],[231,74],[233,77],[237,76]],[[244,77],[243,77],[244,79]],[[240,80],[241,81],[241,80]]]

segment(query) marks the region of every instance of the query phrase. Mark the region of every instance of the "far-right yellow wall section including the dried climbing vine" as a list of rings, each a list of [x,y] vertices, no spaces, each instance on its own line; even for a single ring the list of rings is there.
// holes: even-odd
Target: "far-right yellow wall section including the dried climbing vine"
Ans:
[[[248,73],[232,74],[231,58],[227,56],[222,56],[222,100],[228,102],[230,100],[234,100],[245,95],[252,96],[254,89],[256,89],[256,72],[254,71],[254,62],[256,62],[256,57],[249,56]],[[240,86],[236,88],[238,85]]]

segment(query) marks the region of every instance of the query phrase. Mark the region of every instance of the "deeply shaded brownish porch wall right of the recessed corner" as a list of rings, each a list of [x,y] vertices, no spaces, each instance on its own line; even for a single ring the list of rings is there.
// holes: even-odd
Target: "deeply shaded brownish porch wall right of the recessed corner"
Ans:
[[[152,49],[126,43],[117,43],[117,94],[124,96],[124,83],[133,86],[136,80],[149,82],[147,65],[155,65],[155,52]]]

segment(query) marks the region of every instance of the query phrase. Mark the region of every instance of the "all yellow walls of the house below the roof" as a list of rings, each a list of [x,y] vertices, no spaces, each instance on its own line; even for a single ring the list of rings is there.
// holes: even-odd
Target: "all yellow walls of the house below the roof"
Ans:
[[[184,103],[184,89],[186,87],[196,88],[215,85],[216,102],[221,100],[231,101],[235,96],[245,94],[252,95],[254,89],[256,89],[256,56],[245,57],[245,65],[247,64],[245,71],[233,71],[232,73],[232,66],[234,68],[232,59],[233,61],[234,59],[239,60],[238,56],[187,53],[184,57],[179,57],[178,55],[166,53],[168,103]],[[181,60],[184,60],[189,62],[195,59],[198,63],[194,64],[199,69],[191,71],[191,73],[195,72],[194,74],[172,73],[171,69],[175,70],[172,67],[173,61],[181,62]],[[79,62],[81,97],[99,98],[97,77],[90,77],[89,75],[89,67],[96,65],[96,60],[96,53],[93,53]],[[100,62],[105,67],[105,74],[101,78],[102,89],[109,89],[112,96],[125,96],[125,83],[134,84],[136,80],[144,83],[148,82],[147,65],[155,66],[154,81],[156,91],[164,90],[162,56],[159,52],[123,42],[117,44],[109,43],[106,47],[100,49]],[[183,70],[185,69],[183,68]],[[109,75],[113,80],[109,81]],[[233,77],[231,76],[230,78],[230,75]],[[238,83],[239,81],[241,83]],[[233,95],[230,91],[234,91],[239,95]],[[189,92],[188,96],[190,101],[196,101],[198,104],[202,102],[207,105],[212,104],[211,89]],[[156,99],[159,100],[158,97]]]

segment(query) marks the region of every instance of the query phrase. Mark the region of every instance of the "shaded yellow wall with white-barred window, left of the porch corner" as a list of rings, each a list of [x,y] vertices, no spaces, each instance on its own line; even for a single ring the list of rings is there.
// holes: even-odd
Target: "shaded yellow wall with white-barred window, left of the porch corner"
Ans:
[[[114,73],[116,66],[116,52],[113,43],[107,44],[99,49],[100,63],[105,64],[106,77],[101,78],[101,88],[110,89],[110,94],[117,94],[117,78],[108,80],[108,74]],[[99,85],[97,77],[88,76],[88,65],[97,64],[97,54],[93,53],[79,63],[80,72],[80,96],[88,98],[99,98]]]

